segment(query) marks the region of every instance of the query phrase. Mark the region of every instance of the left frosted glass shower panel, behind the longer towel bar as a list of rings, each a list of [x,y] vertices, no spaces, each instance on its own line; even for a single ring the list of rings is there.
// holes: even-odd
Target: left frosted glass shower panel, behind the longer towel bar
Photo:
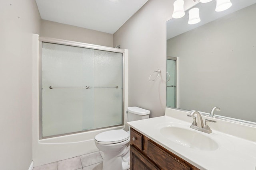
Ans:
[[[73,88],[93,86],[93,63],[93,49],[42,44],[43,137],[93,128],[93,90]]]

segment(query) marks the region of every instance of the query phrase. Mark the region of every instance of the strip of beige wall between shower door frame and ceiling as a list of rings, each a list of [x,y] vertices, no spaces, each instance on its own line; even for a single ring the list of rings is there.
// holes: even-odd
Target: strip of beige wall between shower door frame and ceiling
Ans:
[[[102,45],[113,47],[113,35],[92,29],[66,25],[62,23],[42,20],[41,22],[42,37],[51,37],[82,43]]]

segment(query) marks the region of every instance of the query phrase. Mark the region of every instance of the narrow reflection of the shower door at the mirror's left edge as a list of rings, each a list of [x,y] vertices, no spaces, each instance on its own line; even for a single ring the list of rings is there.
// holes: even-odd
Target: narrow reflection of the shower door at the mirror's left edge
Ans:
[[[169,107],[177,106],[176,61],[176,57],[167,57],[166,60],[166,105]]]

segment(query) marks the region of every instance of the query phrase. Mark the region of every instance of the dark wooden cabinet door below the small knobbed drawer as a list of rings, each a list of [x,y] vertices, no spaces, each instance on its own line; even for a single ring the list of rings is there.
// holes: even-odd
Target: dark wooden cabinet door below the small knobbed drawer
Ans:
[[[130,170],[160,170],[160,168],[130,146]]]

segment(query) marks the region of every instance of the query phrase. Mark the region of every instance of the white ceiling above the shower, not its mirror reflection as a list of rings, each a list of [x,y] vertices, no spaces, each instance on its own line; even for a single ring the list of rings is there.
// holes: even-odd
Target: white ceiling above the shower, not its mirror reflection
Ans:
[[[115,33],[148,0],[36,0],[43,20]]]

